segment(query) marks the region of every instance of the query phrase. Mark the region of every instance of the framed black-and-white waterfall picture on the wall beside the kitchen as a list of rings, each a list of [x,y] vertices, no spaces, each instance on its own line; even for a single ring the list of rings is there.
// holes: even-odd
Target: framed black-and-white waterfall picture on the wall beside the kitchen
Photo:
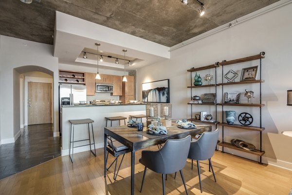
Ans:
[[[169,79],[142,83],[142,101],[170,103]]]

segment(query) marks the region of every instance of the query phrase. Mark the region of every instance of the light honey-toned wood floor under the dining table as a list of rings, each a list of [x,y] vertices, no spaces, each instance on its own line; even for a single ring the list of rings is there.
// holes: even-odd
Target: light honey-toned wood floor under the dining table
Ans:
[[[139,192],[144,166],[138,162],[141,152],[136,154],[135,195],[162,195],[162,177],[150,170],[143,192]],[[187,161],[183,174],[189,195],[288,195],[292,188],[292,171],[260,165],[219,151],[215,152],[212,161],[217,183],[208,171],[207,162],[202,161],[202,194],[198,172],[191,170],[191,162]],[[107,172],[106,178],[103,177],[102,148],[97,149],[97,157],[89,151],[74,154],[73,163],[68,156],[58,157],[0,180],[0,195],[129,195],[129,164],[130,156],[126,154],[117,181],[114,181],[113,169]],[[167,195],[185,195],[179,174],[176,179],[168,175],[165,190]]]

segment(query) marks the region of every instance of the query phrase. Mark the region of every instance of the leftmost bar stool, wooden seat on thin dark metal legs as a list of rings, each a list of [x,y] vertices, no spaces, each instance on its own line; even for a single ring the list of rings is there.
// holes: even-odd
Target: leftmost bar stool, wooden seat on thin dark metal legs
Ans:
[[[81,147],[81,146],[86,146],[86,145],[90,145],[90,151],[91,153],[96,157],[96,151],[95,151],[95,142],[94,142],[94,135],[93,135],[93,126],[92,126],[92,123],[94,121],[92,119],[78,119],[78,120],[69,120],[69,123],[70,123],[70,145],[69,145],[69,157],[70,157],[70,160],[71,162],[73,163],[73,149],[74,149],[74,142],[82,142],[82,141],[87,141],[89,140],[89,144],[85,144],[85,145],[79,145],[79,146],[75,146],[76,147]],[[90,139],[90,130],[89,130],[89,124],[91,123],[91,131],[92,131],[92,138],[93,138],[93,143],[91,143],[91,139]],[[74,125],[75,124],[88,124],[88,139],[85,139],[85,140],[77,140],[77,141],[74,141]],[[73,127],[73,128],[72,128]],[[73,131],[73,133],[72,133]],[[73,134],[73,138],[71,138]],[[72,157],[70,155],[71,153],[71,143],[72,143]],[[93,144],[94,146],[94,153],[93,151],[91,150],[91,144]]]

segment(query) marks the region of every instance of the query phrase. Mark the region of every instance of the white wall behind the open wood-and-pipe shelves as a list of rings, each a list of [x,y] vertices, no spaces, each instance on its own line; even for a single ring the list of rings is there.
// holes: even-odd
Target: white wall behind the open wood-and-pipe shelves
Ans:
[[[263,161],[292,169],[292,138],[281,134],[281,131],[292,130],[291,107],[286,106],[287,90],[292,89],[291,10],[292,3],[174,50],[171,52],[169,60],[137,70],[138,99],[142,99],[141,83],[169,78],[170,101],[173,105],[172,118],[188,118],[191,111],[190,106],[186,103],[190,100],[191,94],[190,89],[186,88],[186,86],[190,86],[190,73],[186,70],[191,67],[214,64],[217,61],[255,55],[264,51],[266,57],[263,59],[262,77],[266,82],[263,83],[262,100],[266,106],[262,109],[262,119],[263,126],[266,128],[263,132],[263,150],[266,154]],[[259,65],[259,61],[228,66],[225,70],[233,69],[240,73],[242,66],[253,65]],[[198,73],[203,76],[207,71]],[[226,88],[226,90],[244,92],[244,88],[249,87],[249,89],[257,90],[255,96],[258,96],[258,89],[254,85],[256,84],[240,87],[232,86],[232,88]],[[202,94],[205,91],[206,88],[203,88],[198,93]],[[246,101],[243,96],[241,96],[241,100]],[[221,116],[221,106],[218,106],[218,108]],[[200,111],[200,109],[209,108],[200,107],[196,109],[196,111]],[[225,107],[224,109],[228,108]],[[244,108],[239,109],[230,106],[229,109],[237,110],[237,113],[240,113]],[[251,108],[246,109],[255,117],[258,116],[258,111]],[[220,116],[219,120],[221,119]],[[228,141],[231,137],[239,137],[258,146],[259,136],[257,132],[231,128],[225,132],[229,136],[225,141]],[[243,153],[231,152],[244,156]],[[247,155],[247,157],[257,160],[255,156]]]

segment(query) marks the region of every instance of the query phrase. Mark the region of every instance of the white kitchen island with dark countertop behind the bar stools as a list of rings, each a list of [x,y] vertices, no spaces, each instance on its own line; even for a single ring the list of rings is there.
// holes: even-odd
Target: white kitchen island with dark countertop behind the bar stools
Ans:
[[[104,146],[104,127],[106,126],[105,117],[146,114],[146,104],[102,104],[102,105],[77,105],[62,106],[61,109],[61,134],[62,148],[61,155],[69,154],[69,120],[92,119],[95,147]],[[124,121],[121,121],[121,125]],[[127,120],[126,120],[127,124]],[[109,124],[108,124],[109,125]],[[118,126],[118,121],[113,121],[112,126]],[[78,124],[74,126],[74,140],[83,140],[88,138],[87,124]],[[91,135],[92,136],[92,135]],[[91,137],[92,139],[92,137]],[[74,146],[85,145],[88,141],[75,142]],[[90,146],[81,146],[74,148],[74,153],[90,150]]]

